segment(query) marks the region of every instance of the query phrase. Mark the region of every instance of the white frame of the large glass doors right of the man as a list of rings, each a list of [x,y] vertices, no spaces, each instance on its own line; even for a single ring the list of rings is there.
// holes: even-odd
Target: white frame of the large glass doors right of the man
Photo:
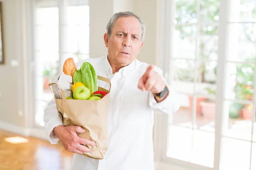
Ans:
[[[199,2],[199,0],[197,0]],[[164,77],[167,82],[172,86],[174,79],[173,61],[172,56],[172,34],[174,24],[172,23],[175,16],[175,2],[169,0],[160,0],[158,4],[159,10],[159,66],[163,68]],[[168,141],[168,116],[163,114],[155,115],[155,127],[154,127],[154,147],[155,147],[155,161],[159,169],[174,168],[175,170],[219,170],[221,163],[221,144],[222,134],[224,130],[224,102],[227,100],[224,96],[227,77],[226,65],[227,61],[227,27],[230,24],[228,22],[228,9],[230,0],[220,0],[220,12],[219,12],[219,39],[218,39],[218,67],[217,67],[217,79],[216,79],[216,113],[215,113],[215,148],[214,148],[214,164],[213,167],[205,167],[202,165],[194,164],[179,159],[174,159],[166,156],[167,153],[167,141]],[[197,5],[198,8],[198,5]],[[187,59],[189,60],[189,59]],[[195,59],[196,60],[196,59]],[[246,62],[242,62],[246,63]],[[256,63],[252,63],[256,64]],[[197,69],[197,67],[195,67]],[[218,74],[225,73],[225,74]],[[196,80],[195,80],[196,81]],[[194,83],[195,83],[194,81]],[[254,74],[254,81],[256,81],[256,71]],[[194,84],[195,85],[195,84]],[[256,89],[256,83],[254,83],[254,89]],[[195,120],[195,99],[194,96],[194,110],[193,121]],[[238,100],[233,100],[236,102]],[[238,101],[241,102],[241,101]],[[256,113],[256,94],[253,94],[253,113]],[[253,114],[253,122],[255,122],[255,114]],[[253,127],[252,127],[253,128]],[[252,131],[253,133],[253,131]],[[251,142],[252,144],[253,142]],[[252,146],[252,145],[251,145]],[[252,147],[251,147],[252,150]],[[250,167],[252,161],[252,153],[250,155]]]

